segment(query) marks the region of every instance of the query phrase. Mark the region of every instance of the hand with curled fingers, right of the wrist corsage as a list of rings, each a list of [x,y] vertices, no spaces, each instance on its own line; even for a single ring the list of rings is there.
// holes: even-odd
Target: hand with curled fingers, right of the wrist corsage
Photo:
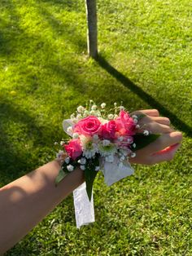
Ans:
[[[142,165],[155,165],[162,161],[171,161],[177,149],[181,146],[182,134],[170,127],[167,117],[159,117],[156,109],[136,111],[132,114],[144,113],[138,124],[141,130],[149,130],[152,134],[160,134],[159,138],[145,148],[137,150],[136,157],[130,158],[130,162]]]

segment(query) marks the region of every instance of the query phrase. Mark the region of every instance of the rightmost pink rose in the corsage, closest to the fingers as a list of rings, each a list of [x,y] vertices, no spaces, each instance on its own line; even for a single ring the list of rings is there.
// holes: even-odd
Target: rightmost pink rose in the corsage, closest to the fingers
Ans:
[[[135,123],[133,118],[124,110],[120,111],[120,116],[116,118],[117,132],[121,136],[131,136],[135,134]]]

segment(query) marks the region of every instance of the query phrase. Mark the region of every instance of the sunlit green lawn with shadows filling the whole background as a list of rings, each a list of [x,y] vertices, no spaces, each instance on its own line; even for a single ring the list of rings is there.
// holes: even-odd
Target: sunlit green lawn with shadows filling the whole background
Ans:
[[[88,99],[159,108],[183,132],[170,163],[94,184],[96,222],[76,229],[72,196],[7,255],[191,255],[189,1],[98,0],[98,62],[83,1],[1,0],[0,186],[55,157],[62,121]],[[16,216],[15,216],[16,218]]]

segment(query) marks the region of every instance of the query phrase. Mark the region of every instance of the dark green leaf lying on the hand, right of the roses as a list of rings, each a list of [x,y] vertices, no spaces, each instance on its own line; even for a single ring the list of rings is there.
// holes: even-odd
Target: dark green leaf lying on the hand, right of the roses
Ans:
[[[131,150],[134,152],[139,149],[145,148],[147,145],[149,145],[150,143],[158,139],[159,136],[160,135],[143,135],[143,134],[133,135],[133,143],[136,144],[136,147],[133,148],[133,145],[132,145]]]

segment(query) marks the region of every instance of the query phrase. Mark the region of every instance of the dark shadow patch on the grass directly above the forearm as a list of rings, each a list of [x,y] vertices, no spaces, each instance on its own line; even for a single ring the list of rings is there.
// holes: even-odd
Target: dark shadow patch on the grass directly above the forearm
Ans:
[[[53,134],[49,127],[38,125],[35,117],[20,109],[20,106],[9,103],[7,99],[1,99],[0,118],[1,183],[9,183],[28,171],[34,170],[42,164],[41,157],[46,158],[47,161],[51,160],[53,150],[49,148],[53,145]],[[15,130],[7,130],[9,122],[13,124]],[[24,134],[21,131],[18,133],[18,125],[22,126]],[[28,141],[25,143],[25,139],[30,141],[29,146]],[[34,154],[33,150],[36,148],[47,148],[47,152],[41,152],[40,149]]]

